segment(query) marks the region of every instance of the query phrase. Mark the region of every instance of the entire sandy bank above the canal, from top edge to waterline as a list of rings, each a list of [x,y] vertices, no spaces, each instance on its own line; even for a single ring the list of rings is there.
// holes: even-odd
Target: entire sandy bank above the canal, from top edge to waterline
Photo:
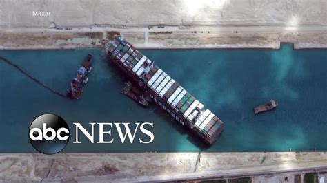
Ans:
[[[33,17],[33,11],[51,13]],[[87,36],[90,32],[102,36]],[[324,0],[0,0],[2,49],[101,47],[108,32],[139,48],[278,49],[281,42],[327,47],[327,5]]]

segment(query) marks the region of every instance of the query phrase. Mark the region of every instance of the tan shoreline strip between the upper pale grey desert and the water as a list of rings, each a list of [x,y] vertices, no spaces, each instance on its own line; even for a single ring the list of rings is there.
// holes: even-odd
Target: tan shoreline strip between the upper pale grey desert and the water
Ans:
[[[114,36],[121,36],[138,49],[273,49],[292,43],[297,49],[326,49],[325,26],[281,32],[279,27],[165,28],[0,28],[0,50],[61,50],[102,48]],[[258,29],[258,30],[257,30]]]

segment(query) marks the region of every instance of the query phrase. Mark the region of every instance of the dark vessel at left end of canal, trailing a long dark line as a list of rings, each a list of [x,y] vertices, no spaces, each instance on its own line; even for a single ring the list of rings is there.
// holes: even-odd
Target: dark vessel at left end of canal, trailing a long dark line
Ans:
[[[86,76],[92,70],[92,56],[91,53],[86,56],[85,60],[77,70],[76,76],[72,79],[72,82],[70,82],[70,88],[67,89],[68,98],[79,99],[81,97],[83,92],[81,86],[88,83],[88,77]]]

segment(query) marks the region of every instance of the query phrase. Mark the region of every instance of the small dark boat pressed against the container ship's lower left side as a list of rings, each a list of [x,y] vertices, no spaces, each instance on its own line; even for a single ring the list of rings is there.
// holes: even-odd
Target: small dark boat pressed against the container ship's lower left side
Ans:
[[[149,102],[152,100],[150,97],[147,97],[147,95],[143,93],[141,89],[133,86],[130,81],[125,83],[125,87],[123,87],[121,93],[126,94],[126,96],[129,96],[132,98],[132,100],[135,100],[137,103],[143,105],[144,107],[149,106]]]

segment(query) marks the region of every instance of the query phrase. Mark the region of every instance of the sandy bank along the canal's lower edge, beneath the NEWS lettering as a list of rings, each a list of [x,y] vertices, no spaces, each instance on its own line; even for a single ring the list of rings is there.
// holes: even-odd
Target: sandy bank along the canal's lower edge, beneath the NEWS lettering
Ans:
[[[327,171],[327,153],[0,154],[0,180],[146,181]]]

